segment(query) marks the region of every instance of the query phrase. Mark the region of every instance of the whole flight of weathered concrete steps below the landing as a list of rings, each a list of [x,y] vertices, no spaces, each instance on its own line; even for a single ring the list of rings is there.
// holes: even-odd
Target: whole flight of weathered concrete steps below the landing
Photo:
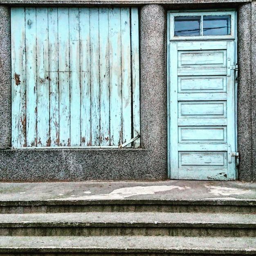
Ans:
[[[252,198],[117,194],[0,199],[0,255],[256,255]]]

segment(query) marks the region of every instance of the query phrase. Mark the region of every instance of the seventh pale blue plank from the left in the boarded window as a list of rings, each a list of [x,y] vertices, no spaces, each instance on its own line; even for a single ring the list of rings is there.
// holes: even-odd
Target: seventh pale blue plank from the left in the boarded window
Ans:
[[[89,8],[79,9],[81,146],[91,146],[91,66]]]

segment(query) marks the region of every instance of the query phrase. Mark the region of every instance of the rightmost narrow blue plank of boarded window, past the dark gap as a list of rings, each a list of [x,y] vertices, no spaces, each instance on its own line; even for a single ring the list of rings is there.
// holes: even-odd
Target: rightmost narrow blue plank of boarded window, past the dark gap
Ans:
[[[132,48],[132,113],[133,136],[140,134],[139,106],[139,14],[138,8],[131,8],[131,48]],[[140,138],[133,143],[135,148],[140,146]]]

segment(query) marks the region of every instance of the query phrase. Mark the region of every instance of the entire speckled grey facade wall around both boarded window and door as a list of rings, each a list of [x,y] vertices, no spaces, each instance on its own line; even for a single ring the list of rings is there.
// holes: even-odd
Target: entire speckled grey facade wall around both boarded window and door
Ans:
[[[0,4],[7,1],[0,0]],[[29,1],[27,1],[29,2]],[[35,1],[35,3],[40,1]],[[58,1],[55,1],[58,2]],[[61,4],[63,1],[59,1]],[[185,0],[178,1],[184,6]],[[187,1],[195,9],[200,4]],[[208,1],[211,8],[238,7],[239,179],[256,180],[256,2]],[[216,5],[214,6],[214,2]],[[17,4],[17,0],[8,1]],[[20,3],[20,1],[19,1]],[[30,2],[31,3],[31,0]],[[43,3],[43,2],[41,2]],[[44,3],[47,3],[44,1]],[[63,2],[64,3],[64,2]],[[10,10],[0,6],[0,180],[164,180],[167,178],[166,10],[177,1],[146,4],[140,12],[140,149],[6,150],[11,141]],[[67,4],[67,1],[65,2]],[[72,4],[72,1],[70,1]],[[88,1],[85,3],[90,4]],[[95,4],[95,2],[94,2]],[[98,2],[98,4],[101,4]],[[116,2],[116,4],[124,4]],[[204,1],[207,4],[207,1]],[[80,1],[83,6],[83,1]],[[190,5],[189,5],[190,6]]]

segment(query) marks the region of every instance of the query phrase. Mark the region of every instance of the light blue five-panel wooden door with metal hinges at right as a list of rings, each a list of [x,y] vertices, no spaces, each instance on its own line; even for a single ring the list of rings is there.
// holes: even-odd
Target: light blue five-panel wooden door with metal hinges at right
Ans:
[[[199,26],[204,15],[193,14]],[[235,180],[236,40],[198,34],[169,37],[170,178]]]

